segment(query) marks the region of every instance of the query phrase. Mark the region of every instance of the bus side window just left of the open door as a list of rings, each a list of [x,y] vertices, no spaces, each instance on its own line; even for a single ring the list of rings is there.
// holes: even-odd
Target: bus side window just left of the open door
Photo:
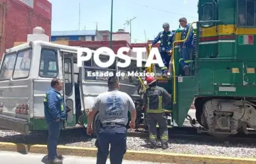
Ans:
[[[58,76],[57,53],[52,49],[42,49],[39,76],[56,78]]]

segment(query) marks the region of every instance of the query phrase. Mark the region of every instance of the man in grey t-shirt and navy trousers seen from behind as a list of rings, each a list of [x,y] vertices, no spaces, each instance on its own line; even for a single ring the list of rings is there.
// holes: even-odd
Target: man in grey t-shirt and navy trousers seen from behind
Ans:
[[[132,98],[118,91],[118,77],[108,78],[108,92],[99,94],[95,98],[88,114],[87,134],[92,134],[92,122],[99,111],[100,126],[97,128],[97,164],[106,164],[109,144],[110,163],[121,164],[126,153],[126,124],[128,123],[128,111],[131,114],[130,128],[135,128],[136,109]]]

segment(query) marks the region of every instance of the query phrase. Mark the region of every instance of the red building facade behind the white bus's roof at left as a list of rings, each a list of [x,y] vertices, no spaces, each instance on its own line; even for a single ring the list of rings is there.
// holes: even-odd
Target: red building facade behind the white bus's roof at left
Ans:
[[[27,40],[41,26],[50,36],[52,4],[47,0],[0,0],[0,59],[15,42]]]

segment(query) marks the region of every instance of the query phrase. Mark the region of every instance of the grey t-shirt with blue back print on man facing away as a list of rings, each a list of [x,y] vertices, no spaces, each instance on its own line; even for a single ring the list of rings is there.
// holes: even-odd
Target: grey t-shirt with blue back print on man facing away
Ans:
[[[110,90],[95,98],[91,109],[99,111],[101,123],[128,123],[128,111],[135,111],[134,101],[125,92]]]

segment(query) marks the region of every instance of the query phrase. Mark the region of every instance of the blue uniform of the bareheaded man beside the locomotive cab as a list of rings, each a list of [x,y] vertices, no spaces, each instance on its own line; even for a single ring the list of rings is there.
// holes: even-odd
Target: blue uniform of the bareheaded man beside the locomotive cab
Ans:
[[[187,34],[189,32],[191,24],[187,24],[187,26],[183,29],[181,40],[185,40],[187,37]],[[181,67],[184,69],[186,65],[191,64],[191,52],[193,48],[193,28],[191,29],[191,32],[189,33],[189,38],[187,41],[184,41],[181,43],[181,57],[179,59],[179,63],[181,64]],[[185,47],[183,47],[185,46]]]

